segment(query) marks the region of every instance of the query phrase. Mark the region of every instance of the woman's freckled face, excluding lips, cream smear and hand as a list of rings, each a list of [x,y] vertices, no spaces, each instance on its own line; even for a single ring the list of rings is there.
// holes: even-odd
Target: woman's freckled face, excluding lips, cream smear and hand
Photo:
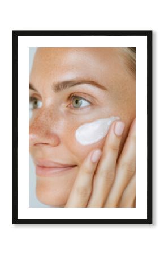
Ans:
[[[37,175],[38,200],[66,204],[85,157],[103,148],[105,138],[83,146],[75,131],[84,123],[119,116],[126,123],[122,144],[135,118],[135,79],[118,48],[38,48],[29,77],[33,114],[29,151],[36,162],[51,160],[74,168],[49,176]],[[83,99],[81,99],[81,98]]]

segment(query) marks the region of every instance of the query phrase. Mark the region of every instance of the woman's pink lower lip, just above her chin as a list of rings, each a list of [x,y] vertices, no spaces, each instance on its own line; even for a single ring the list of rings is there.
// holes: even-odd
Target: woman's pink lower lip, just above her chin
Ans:
[[[74,167],[76,167],[76,165],[75,166],[66,166],[66,167],[47,167],[47,166],[36,165],[36,175],[43,176],[43,177],[54,176],[55,174],[70,171]]]

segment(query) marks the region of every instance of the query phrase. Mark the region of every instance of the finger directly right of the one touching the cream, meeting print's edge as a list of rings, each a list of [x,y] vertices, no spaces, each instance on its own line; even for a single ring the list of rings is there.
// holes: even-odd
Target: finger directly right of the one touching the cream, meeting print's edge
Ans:
[[[122,154],[116,164],[116,176],[105,207],[117,207],[120,197],[136,171],[136,125],[132,122]]]

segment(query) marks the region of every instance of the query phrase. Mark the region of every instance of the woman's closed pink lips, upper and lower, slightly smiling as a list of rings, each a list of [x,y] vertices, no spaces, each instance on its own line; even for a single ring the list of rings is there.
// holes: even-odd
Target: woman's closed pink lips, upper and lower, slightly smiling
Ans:
[[[72,168],[76,167],[76,165],[62,164],[50,160],[41,159],[36,159],[34,163],[36,164],[36,175],[45,177],[54,176],[59,172],[69,171],[72,170]]]

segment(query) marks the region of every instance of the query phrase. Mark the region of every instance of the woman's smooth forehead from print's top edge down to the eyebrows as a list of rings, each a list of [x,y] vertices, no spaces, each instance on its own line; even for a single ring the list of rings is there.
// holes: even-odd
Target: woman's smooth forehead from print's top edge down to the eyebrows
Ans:
[[[38,48],[30,80],[35,85],[84,78],[108,87],[127,77],[118,48]]]

